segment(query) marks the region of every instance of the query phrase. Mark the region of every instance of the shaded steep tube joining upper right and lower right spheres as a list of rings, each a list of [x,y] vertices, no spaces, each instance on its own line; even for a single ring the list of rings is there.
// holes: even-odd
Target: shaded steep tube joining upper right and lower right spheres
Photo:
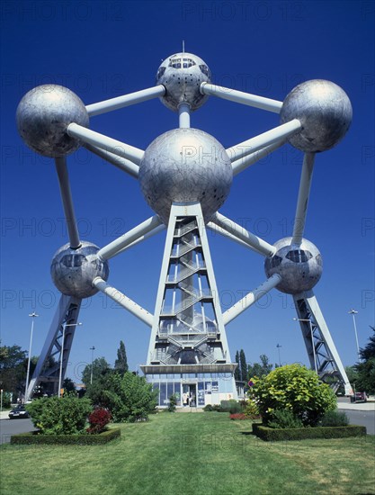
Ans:
[[[297,202],[296,216],[294,218],[293,244],[301,244],[305,230],[306,216],[308,213],[308,198],[310,194],[312,175],[314,171],[315,153],[305,153],[303,158],[302,173],[299,182],[299,199]]]

